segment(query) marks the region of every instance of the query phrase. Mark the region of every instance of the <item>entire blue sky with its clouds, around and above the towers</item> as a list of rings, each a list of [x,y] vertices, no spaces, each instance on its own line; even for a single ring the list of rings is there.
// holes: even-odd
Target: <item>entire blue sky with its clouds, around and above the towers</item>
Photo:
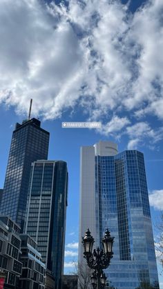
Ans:
[[[109,139],[119,151],[144,152],[153,223],[163,209],[163,3],[56,3],[0,3],[0,187],[12,130],[32,98],[32,117],[50,132],[49,159],[68,163],[70,272],[77,259],[80,146]],[[61,121],[101,121],[102,129],[63,129]]]

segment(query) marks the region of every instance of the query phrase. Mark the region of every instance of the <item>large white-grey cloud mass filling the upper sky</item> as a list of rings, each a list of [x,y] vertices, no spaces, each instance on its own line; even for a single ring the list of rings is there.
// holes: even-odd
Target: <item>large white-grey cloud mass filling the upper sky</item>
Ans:
[[[24,113],[32,97],[32,114],[45,119],[79,105],[90,118],[106,116],[105,135],[124,133],[133,117],[162,119],[162,0],[135,14],[120,1],[41,3],[0,1],[0,103]],[[160,128],[144,121],[131,137],[134,126],[128,147],[160,141]]]

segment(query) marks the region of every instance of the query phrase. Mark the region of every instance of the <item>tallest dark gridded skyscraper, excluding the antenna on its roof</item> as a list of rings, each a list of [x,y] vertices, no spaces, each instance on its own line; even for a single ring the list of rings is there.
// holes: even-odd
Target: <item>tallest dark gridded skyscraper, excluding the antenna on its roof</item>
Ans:
[[[1,214],[8,215],[23,229],[32,161],[47,159],[49,132],[38,119],[17,123],[12,134]]]

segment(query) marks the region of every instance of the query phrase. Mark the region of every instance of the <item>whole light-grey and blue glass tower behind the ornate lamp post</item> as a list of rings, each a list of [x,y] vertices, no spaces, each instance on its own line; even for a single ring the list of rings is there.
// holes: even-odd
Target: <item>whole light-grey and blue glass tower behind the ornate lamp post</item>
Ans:
[[[135,289],[141,281],[158,282],[142,152],[118,153],[111,141],[81,148],[81,264],[81,237],[87,228],[95,238],[95,246],[101,246],[106,228],[115,237],[113,259],[106,270],[115,288]]]

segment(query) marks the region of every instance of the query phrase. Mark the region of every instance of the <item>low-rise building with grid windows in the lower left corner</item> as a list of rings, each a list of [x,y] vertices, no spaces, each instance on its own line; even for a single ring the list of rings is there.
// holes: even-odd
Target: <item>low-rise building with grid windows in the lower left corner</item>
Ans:
[[[46,266],[37,243],[10,219],[0,215],[0,288],[45,289]]]

